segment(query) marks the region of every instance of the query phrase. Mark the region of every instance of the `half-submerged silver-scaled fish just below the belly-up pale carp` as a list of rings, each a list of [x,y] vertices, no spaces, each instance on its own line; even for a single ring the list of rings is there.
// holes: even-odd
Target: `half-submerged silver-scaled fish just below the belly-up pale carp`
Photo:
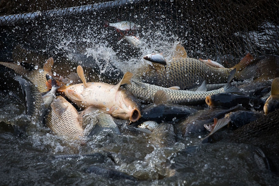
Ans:
[[[120,131],[116,123],[113,121],[113,117],[107,113],[98,114],[98,122],[91,130],[89,136],[100,134],[101,131],[109,129],[117,135],[120,135]]]

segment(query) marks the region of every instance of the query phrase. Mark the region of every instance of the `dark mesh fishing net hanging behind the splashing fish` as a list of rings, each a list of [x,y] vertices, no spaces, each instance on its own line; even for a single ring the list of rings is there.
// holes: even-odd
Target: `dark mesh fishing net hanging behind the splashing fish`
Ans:
[[[108,47],[120,60],[136,63],[146,54],[124,45],[114,28],[104,27],[104,21],[128,20],[139,25],[129,34],[151,52],[181,42],[189,57],[231,67],[248,52],[279,55],[278,10],[279,3],[266,0],[2,0],[0,59],[12,60],[13,48],[23,44],[51,54],[67,50],[88,55],[90,47]]]

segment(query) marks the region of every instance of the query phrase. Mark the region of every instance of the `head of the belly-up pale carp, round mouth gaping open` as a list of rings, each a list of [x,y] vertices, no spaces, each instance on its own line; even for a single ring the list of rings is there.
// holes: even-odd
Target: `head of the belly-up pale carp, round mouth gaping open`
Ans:
[[[110,110],[113,117],[135,122],[141,117],[140,107],[141,104],[138,99],[130,91],[121,89],[119,90],[119,96],[117,96],[116,105]]]

